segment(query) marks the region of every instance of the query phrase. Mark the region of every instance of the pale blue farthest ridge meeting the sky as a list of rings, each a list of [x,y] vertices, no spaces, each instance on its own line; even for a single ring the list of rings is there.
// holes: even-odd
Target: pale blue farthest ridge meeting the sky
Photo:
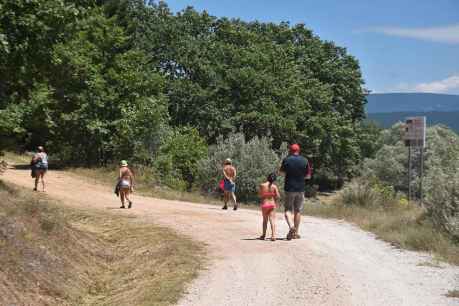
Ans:
[[[370,94],[367,100],[366,111],[368,114],[459,111],[459,95],[386,93]]]

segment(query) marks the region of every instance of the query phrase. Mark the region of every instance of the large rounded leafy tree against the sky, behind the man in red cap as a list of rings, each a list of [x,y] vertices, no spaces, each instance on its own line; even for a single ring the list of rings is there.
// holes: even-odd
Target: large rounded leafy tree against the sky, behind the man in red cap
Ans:
[[[243,22],[160,2],[136,35],[167,76],[171,123],[210,143],[233,130],[299,142],[342,177],[360,159],[365,103],[358,62],[304,25]],[[330,129],[332,128],[332,129]],[[346,140],[343,140],[346,137]]]

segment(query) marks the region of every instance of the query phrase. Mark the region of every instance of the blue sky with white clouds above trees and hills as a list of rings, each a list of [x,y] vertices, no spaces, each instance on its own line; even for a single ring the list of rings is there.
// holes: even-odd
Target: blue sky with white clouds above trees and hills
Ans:
[[[373,92],[459,94],[459,0],[168,0],[246,21],[304,23],[360,61]]]

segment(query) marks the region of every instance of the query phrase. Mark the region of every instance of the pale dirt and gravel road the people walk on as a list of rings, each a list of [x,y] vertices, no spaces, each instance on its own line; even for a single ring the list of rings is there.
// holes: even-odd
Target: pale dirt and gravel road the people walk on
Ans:
[[[32,188],[26,170],[10,169],[2,179]],[[119,206],[111,188],[65,172],[49,172],[47,195],[80,208]],[[459,288],[458,267],[426,266],[429,256],[400,251],[344,222],[305,217],[302,239],[271,242],[255,240],[261,216],[254,210],[135,195],[133,209],[113,211],[208,245],[208,269],[179,305],[459,305],[445,297]]]

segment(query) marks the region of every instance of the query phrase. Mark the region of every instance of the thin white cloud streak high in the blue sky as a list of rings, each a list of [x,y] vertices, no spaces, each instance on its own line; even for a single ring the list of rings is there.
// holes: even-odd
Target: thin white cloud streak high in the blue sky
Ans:
[[[383,33],[390,36],[459,44],[459,24],[430,28],[376,27],[365,32]]]

